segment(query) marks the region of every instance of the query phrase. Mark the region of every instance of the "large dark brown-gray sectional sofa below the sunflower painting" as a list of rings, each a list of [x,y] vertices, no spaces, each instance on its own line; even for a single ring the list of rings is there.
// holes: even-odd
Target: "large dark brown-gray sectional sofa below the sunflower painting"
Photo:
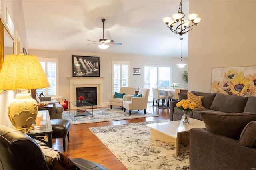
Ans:
[[[255,170],[256,97],[191,93],[204,96],[205,108],[196,108],[189,116],[203,120],[206,129],[190,130],[190,170]],[[176,103],[170,103],[170,121],[183,115]]]

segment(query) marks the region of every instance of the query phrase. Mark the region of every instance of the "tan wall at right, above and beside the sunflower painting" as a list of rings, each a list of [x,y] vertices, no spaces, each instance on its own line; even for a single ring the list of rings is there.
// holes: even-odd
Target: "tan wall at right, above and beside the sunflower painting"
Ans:
[[[189,91],[210,93],[212,68],[256,65],[255,0],[190,0]]]

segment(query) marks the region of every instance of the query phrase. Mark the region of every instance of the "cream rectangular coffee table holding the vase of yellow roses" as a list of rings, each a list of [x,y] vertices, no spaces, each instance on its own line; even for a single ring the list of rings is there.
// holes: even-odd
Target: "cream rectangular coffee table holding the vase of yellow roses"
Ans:
[[[175,142],[175,156],[178,156],[180,144],[189,143],[189,130],[192,128],[205,128],[203,121],[198,119],[189,119],[189,123],[182,121],[169,121],[162,123],[153,123],[146,125],[151,128],[151,139]]]

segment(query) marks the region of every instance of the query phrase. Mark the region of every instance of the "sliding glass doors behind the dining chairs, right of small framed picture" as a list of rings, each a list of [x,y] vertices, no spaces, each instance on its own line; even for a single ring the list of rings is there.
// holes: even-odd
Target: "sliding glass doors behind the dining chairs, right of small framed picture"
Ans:
[[[144,87],[152,89],[152,87],[170,86],[171,66],[144,65]],[[149,96],[153,96],[150,90]]]

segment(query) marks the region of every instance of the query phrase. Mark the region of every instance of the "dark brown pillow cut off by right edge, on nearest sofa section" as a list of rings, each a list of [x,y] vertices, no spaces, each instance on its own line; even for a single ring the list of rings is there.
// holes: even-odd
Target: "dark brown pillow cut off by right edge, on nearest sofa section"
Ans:
[[[243,129],[238,143],[242,146],[256,148],[256,121],[249,122]]]

